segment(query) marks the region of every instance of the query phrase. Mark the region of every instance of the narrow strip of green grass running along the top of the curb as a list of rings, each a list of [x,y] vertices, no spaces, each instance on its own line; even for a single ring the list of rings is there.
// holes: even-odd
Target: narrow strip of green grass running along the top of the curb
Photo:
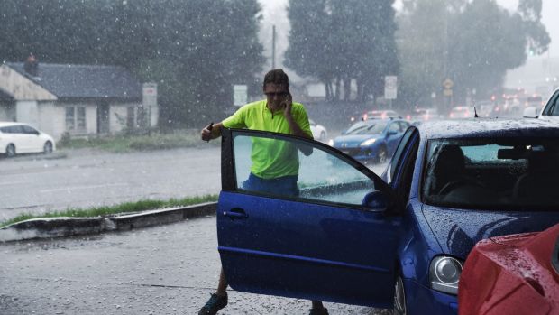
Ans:
[[[30,218],[55,218],[55,217],[74,217],[92,218],[108,217],[119,213],[138,212],[155,210],[160,208],[184,207],[196,205],[198,203],[217,201],[217,195],[206,195],[201,197],[189,197],[184,199],[169,200],[140,200],[136,202],[124,202],[115,206],[95,207],[95,208],[68,208],[64,211],[48,212],[42,215],[32,215],[23,213],[15,218],[0,223],[0,227],[21,222]]]

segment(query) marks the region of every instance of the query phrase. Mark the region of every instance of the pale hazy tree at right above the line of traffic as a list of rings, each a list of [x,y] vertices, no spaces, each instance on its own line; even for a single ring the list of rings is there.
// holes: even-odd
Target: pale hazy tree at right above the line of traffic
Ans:
[[[397,34],[405,106],[430,103],[445,78],[454,80],[454,99],[474,89],[489,97],[527,50],[547,50],[540,18],[541,0],[521,0],[512,14],[495,0],[405,1]]]

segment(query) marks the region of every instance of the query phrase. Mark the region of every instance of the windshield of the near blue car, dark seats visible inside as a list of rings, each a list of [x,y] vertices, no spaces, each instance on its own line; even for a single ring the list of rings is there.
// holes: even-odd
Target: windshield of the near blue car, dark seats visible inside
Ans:
[[[427,146],[423,197],[454,208],[559,206],[559,141],[541,138],[453,139]]]

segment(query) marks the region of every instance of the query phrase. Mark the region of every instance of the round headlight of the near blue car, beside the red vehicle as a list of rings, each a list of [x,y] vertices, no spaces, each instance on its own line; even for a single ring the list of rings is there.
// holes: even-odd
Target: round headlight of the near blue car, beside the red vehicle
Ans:
[[[431,289],[458,294],[458,280],[462,273],[463,263],[454,257],[437,256],[429,267]]]

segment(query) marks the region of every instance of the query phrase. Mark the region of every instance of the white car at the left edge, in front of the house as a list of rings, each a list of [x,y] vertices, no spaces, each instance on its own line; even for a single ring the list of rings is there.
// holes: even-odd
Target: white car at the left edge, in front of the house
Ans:
[[[13,157],[20,153],[51,153],[55,143],[49,134],[21,123],[0,122],[0,153]]]

